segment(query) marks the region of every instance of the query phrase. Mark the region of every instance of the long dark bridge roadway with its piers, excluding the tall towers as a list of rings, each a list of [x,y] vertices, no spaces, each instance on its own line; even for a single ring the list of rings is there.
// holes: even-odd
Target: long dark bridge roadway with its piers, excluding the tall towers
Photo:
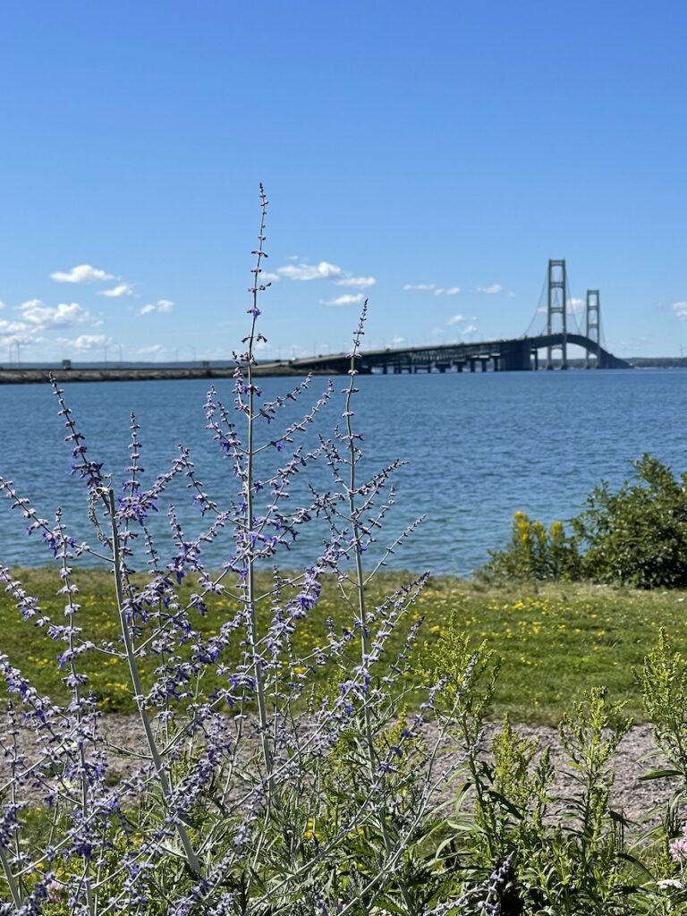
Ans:
[[[539,351],[562,347],[562,344],[576,344],[583,347],[588,355],[588,365],[599,369],[631,369],[624,359],[609,353],[596,341],[583,334],[562,333],[541,334],[538,337],[518,337],[516,340],[483,341],[472,344],[425,345],[385,350],[367,350],[360,354],[358,371],[364,374],[447,372],[463,369],[474,372],[479,366],[483,371],[488,367],[496,372],[522,372],[540,368]],[[593,357],[593,358],[592,358]],[[277,373],[279,366],[289,372],[316,372],[321,374],[345,375],[351,367],[350,354],[322,354],[289,362],[261,363],[260,369]],[[543,366],[542,366],[543,367]],[[561,365],[567,368],[567,365]]]

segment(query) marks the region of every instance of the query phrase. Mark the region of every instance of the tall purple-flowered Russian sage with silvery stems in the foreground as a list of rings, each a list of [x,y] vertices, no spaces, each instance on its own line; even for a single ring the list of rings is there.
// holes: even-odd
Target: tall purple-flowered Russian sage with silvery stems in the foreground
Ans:
[[[266,341],[259,303],[269,285],[260,276],[267,257],[262,188],[260,199],[249,330],[236,354],[231,400],[227,405],[211,388],[205,404],[213,447],[227,469],[224,494],[206,493],[183,447],[168,470],[147,477],[133,415],[119,489],[93,458],[55,382],[72,468],[88,494],[92,539],[77,542],[60,510],[52,521],[40,518],[0,478],[11,507],[58,565],[63,618],[45,613],[10,569],[0,568],[0,581],[26,626],[47,631],[59,647],[68,693],[67,702],[41,695],[16,660],[0,655],[8,698],[3,914],[415,916],[442,896],[427,837],[437,792],[457,766],[455,756],[439,766],[449,754],[444,738],[452,710],[442,706],[430,733],[445,682],[428,682],[409,714],[403,680],[420,626],[407,622],[408,611],[427,577],[375,605],[368,599],[371,577],[415,526],[365,565],[393,505],[391,476],[400,464],[365,474],[362,437],[354,430],[365,310],[342,422],[307,450],[303,434],[335,394],[330,383],[291,423],[282,421],[282,409],[306,395],[311,379],[271,401],[261,395],[255,354]],[[261,453],[279,459],[267,477],[257,472]],[[292,485],[315,462],[329,466],[332,486],[311,487],[308,501],[292,508]],[[185,480],[203,529],[188,537],[170,505],[174,550],[163,557],[150,517],[177,479]],[[322,549],[306,569],[289,572],[282,557],[289,560],[289,543],[312,519],[326,528]],[[224,531],[231,551],[219,569],[208,569],[203,549]],[[112,575],[116,638],[89,627],[80,605],[89,575],[84,560]],[[258,568],[271,571],[268,581]],[[337,590],[341,613],[303,651],[297,637],[325,581]],[[208,635],[198,623],[218,596],[232,610]],[[398,630],[404,648],[389,659],[388,639]],[[83,671],[93,657],[125,663],[137,717],[127,747],[110,739]],[[314,686],[322,669],[325,689]],[[494,878],[495,887],[500,880]]]

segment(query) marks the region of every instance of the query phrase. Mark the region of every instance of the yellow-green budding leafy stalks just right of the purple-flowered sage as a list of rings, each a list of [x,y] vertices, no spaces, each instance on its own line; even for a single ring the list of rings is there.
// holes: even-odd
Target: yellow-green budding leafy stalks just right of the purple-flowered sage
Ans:
[[[500,912],[637,912],[635,904],[652,891],[636,882],[636,873],[644,869],[646,883],[650,872],[627,853],[626,822],[610,807],[613,758],[630,726],[622,704],[607,703],[605,688],[593,689],[564,717],[560,739],[573,792],[557,796],[549,748],[518,735],[508,717],[490,747],[485,744],[493,655],[484,645],[471,652],[458,632],[442,638],[431,654],[435,674],[453,683],[453,734],[469,774],[442,845],[454,887],[464,890],[469,877],[485,886],[492,880],[493,889],[496,864],[507,866],[497,897]],[[479,911],[475,893],[464,897],[464,912]]]

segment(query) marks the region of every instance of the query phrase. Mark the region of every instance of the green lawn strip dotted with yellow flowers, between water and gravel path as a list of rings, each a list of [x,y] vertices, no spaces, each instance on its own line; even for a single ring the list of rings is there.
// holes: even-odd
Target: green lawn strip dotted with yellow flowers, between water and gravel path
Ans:
[[[24,586],[37,594],[44,612],[62,623],[63,602],[55,594],[59,588],[56,573],[46,570],[18,571]],[[371,589],[371,603],[379,602],[409,579],[403,573],[384,573]],[[116,639],[119,624],[114,609],[113,583],[107,573],[82,573],[82,611],[77,623],[84,636]],[[259,584],[268,587],[265,578]],[[191,585],[186,586],[191,592]],[[485,639],[503,660],[496,691],[494,713],[508,712],[521,723],[556,723],[583,692],[594,685],[605,685],[613,699],[625,700],[627,710],[638,721],[642,710],[633,669],[657,640],[660,627],[671,635],[675,649],[687,653],[684,627],[687,593],[638,592],[577,583],[486,586],[439,577],[431,583],[409,612],[409,622],[424,617],[418,657],[423,644],[436,640],[455,612],[460,627],[474,645]],[[298,646],[312,649],[322,640],[326,618],[344,621],[342,601],[334,583],[326,583],[314,612],[299,628]],[[268,608],[266,607],[266,613]],[[216,631],[233,605],[226,599],[209,602],[209,613],[198,616],[197,626],[204,632]],[[350,621],[350,616],[348,617]],[[0,593],[2,650],[25,674],[38,691],[55,699],[64,698],[56,658],[61,644],[54,643],[40,629],[24,623],[11,598]],[[395,634],[389,645],[394,658],[405,634]],[[238,647],[234,660],[238,658]],[[154,661],[142,663],[147,681]],[[125,663],[108,663],[103,656],[90,654],[83,669],[90,677],[104,712],[129,712],[133,709]],[[325,674],[318,671],[321,680]],[[203,689],[211,689],[207,679]]]

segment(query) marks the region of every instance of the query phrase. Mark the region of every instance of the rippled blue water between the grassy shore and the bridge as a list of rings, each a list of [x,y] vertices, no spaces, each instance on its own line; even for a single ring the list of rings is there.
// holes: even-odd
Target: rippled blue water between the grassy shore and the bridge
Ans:
[[[315,379],[310,406],[326,381]],[[340,394],[346,379],[334,379],[333,405],[309,427],[305,442],[329,435],[344,410]],[[231,382],[218,392],[232,406]],[[265,398],[290,387],[288,379],[264,379]],[[394,540],[420,515],[426,521],[388,565],[434,573],[471,573],[488,559],[488,551],[508,537],[518,509],[547,522],[570,518],[599,480],[617,485],[630,472],[630,462],[643,452],[657,455],[682,472],[685,463],[682,419],[687,408],[687,372],[634,370],[568,373],[475,373],[427,376],[365,376],[359,379],[355,426],[364,434],[365,470],[394,458],[409,462],[396,474],[397,504],[379,535],[378,546]],[[125,479],[129,413],[141,425],[145,478],[167,470],[179,442],[191,448],[205,489],[221,507],[236,496],[236,481],[205,429],[203,381],[113,382],[70,384],[66,398],[85,432],[89,456],[103,461],[116,485]],[[282,423],[298,411],[289,403]],[[77,540],[93,540],[86,516],[86,492],[71,475],[71,455],[63,442],[66,431],[57,417],[49,387],[0,386],[2,446],[0,474],[29,496],[39,515],[51,518],[55,507]],[[235,414],[240,424],[240,416]],[[278,437],[276,421],[261,434]],[[285,452],[268,449],[260,474],[285,460]],[[301,475],[302,476],[302,475]],[[331,489],[324,463],[311,472],[311,483]],[[303,494],[300,479],[290,507]],[[202,531],[202,518],[191,505],[184,482],[170,491],[190,536]],[[155,530],[163,556],[171,556],[165,517],[160,505]],[[305,565],[317,556],[324,531],[309,536],[285,555],[284,566]],[[204,551],[205,562],[219,567],[231,539]],[[373,551],[374,552],[374,551]],[[370,558],[372,560],[372,557]],[[27,537],[25,524],[6,500],[0,502],[0,562],[42,565],[49,562],[45,545]]]

